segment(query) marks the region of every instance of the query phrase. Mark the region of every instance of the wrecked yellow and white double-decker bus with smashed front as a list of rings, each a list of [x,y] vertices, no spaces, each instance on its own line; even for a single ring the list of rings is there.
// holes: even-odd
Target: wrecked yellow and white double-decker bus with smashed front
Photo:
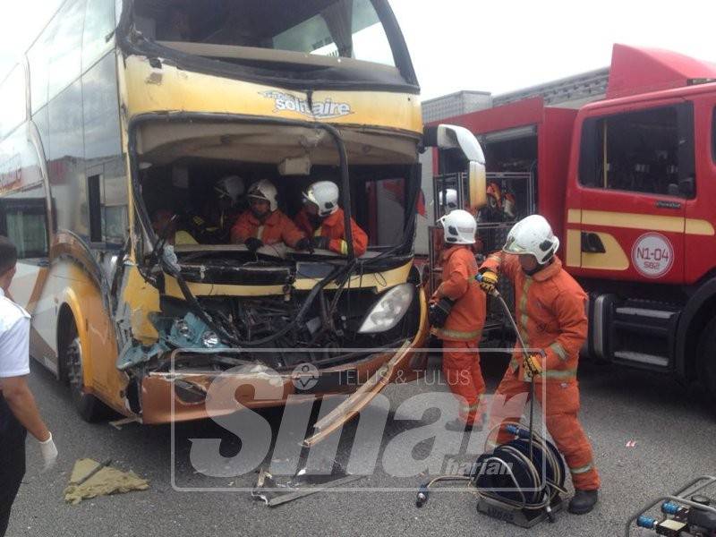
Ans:
[[[237,389],[246,407],[364,402],[419,374],[418,156],[452,153],[475,205],[484,159],[459,127],[423,132],[386,0],[66,0],[0,93],[11,292],[83,418],[205,418],[237,366],[283,385],[271,400]],[[367,251],[350,232],[340,251],[234,241],[260,181],[286,218],[311,183],[336,184]]]

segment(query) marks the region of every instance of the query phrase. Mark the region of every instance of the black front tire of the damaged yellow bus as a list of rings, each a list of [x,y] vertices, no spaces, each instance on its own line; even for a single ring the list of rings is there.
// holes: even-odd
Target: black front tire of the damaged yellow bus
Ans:
[[[99,399],[84,392],[82,377],[82,344],[74,320],[67,323],[62,353],[65,378],[70,388],[72,405],[85,422],[98,422],[108,415],[107,406]]]

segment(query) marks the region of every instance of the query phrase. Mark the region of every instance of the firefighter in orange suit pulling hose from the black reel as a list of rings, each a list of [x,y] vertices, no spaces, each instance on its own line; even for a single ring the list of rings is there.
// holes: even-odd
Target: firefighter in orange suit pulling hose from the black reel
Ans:
[[[579,350],[587,337],[587,297],[562,268],[555,255],[558,247],[558,238],[544,217],[524,218],[507,235],[502,252],[490,255],[480,268],[481,286],[490,293],[498,274],[510,279],[515,286],[516,322],[524,345],[545,354],[545,358],[539,353],[525,356],[518,344],[496,396],[505,396],[508,401],[524,394],[534,378],[547,429],[567,460],[575,485],[569,511],[582,515],[597,503],[600,487],[592,447],[577,418],[576,370]],[[519,420],[517,416],[507,419]]]

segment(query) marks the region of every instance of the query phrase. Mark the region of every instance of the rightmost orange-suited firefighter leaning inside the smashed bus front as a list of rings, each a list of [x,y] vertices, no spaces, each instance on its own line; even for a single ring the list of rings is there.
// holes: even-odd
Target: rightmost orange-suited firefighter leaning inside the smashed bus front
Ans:
[[[345,213],[338,207],[338,187],[330,181],[313,183],[303,192],[303,209],[295,217],[296,226],[311,237],[311,247],[346,255]],[[355,257],[368,248],[368,235],[351,218]]]

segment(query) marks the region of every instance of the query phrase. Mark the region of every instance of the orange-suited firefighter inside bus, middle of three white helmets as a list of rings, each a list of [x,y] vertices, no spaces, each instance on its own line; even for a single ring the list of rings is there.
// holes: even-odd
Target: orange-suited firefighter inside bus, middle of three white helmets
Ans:
[[[232,227],[232,243],[243,243],[250,251],[276,243],[286,243],[297,250],[309,247],[306,235],[278,209],[277,190],[273,183],[268,179],[253,183],[247,197],[250,209],[243,212]]]

